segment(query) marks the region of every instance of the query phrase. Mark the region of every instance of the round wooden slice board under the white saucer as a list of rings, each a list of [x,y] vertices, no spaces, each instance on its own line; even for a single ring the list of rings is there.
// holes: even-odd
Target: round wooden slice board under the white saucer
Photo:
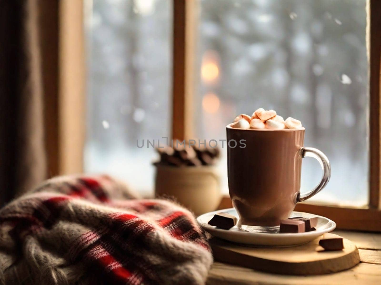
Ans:
[[[331,234],[337,236],[336,234]],[[215,261],[256,270],[291,275],[318,275],[352,268],[360,262],[353,242],[344,239],[344,249],[317,252],[320,237],[295,247],[245,247],[213,237],[209,240]]]

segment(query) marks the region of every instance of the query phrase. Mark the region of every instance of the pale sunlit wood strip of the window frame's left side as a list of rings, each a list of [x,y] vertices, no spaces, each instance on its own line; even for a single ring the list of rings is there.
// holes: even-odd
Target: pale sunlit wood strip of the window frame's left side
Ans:
[[[83,171],[86,134],[84,2],[59,1],[59,149],[61,174]]]

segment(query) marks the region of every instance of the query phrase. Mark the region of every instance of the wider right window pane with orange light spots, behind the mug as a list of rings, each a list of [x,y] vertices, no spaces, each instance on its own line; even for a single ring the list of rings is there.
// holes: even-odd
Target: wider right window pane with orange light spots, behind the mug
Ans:
[[[315,201],[368,200],[365,0],[200,0],[196,135],[226,139],[241,113],[275,109],[306,127],[305,146],[331,161]],[[208,104],[216,102],[219,104]],[[209,108],[213,105],[213,108]],[[217,107],[216,107],[217,106]],[[213,122],[213,123],[210,123]],[[226,148],[221,163],[227,193]],[[301,192],[321,175],[303,160]]]

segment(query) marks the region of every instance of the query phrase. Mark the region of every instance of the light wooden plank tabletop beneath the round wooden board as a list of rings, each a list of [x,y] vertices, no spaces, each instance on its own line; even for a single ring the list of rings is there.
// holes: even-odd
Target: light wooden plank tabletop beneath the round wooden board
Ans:
[[[209,271],[208,285],[225,284],[377,284],[381,285],[381,233],[335,230],[333,233],[354,242],[360,263],[332,274],[295,276],[271,274],[231,264],[215,262]]]

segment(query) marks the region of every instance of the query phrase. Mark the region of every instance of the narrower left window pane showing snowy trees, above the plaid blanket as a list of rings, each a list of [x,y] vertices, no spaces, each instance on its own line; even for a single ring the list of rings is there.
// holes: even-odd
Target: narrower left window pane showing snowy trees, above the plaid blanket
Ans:
[[[147,193],[153,189],[154,149],[138,148],[136,140],[157,141],[170,133],[171,1],[86,5],[85,171],[120,176]]]

